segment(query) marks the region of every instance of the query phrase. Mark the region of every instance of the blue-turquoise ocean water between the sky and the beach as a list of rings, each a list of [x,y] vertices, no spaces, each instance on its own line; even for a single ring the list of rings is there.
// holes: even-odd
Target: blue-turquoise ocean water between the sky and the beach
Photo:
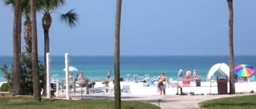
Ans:
[[[0,56],[0,65],[7,63],[11,65],[11,56]],[[179,69],[197,69],[200,78],[206,78],[211,66],[215,63],[228,63],[228,56],[121,56],[121,78],[126,78],[127,74],[138,74],[143,76],[158,76],[160,72],[165,72],[168,78],[177,78]],[[39,57],[43,62],[43,56]],[[235,56],[235,66],[246,63],[256,66],[256,56]],[[111,70],[114,77],[114,57],[113,56],[70,56],[70,66],[78,68],[78,72],[73,72],[73,77],[79,72],[89,79],[104,79]],[[57,75],[58,80],[65,77],[64,56],[51,56],[51,76]],[[255,73],[254,73],[255,75]],[[0,81],[4,80],[4,75],[0,71]]]

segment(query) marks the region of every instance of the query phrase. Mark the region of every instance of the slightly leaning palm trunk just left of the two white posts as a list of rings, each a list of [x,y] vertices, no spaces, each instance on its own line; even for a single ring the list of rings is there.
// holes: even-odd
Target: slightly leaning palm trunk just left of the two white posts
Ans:
[[[33,90],[34,99],[41,101],[39,87],[39,67],[38,67],[38,51],[37,51],[37,17],[35,12],[35,0],[30,0],[30,20],[31,20],[31,37],[32,37],[32,70],[33,70]]]

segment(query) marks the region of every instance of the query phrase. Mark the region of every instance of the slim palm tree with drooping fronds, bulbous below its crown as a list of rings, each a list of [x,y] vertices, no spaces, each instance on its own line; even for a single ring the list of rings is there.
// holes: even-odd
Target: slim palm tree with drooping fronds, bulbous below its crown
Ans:
[[[74,12],[74,10],[68,11],[66,14],[62,14],[60,12],[55,12],[55,10],[62,5],[65,4],[65,0],[42,0],[43,5],[41,9],[43,10],[43,18],[42,18],[42,25],[44,29],[44,66],[46,66],[46,53],[50,52],[50,41],[49,41],[49,30],[51,27],[52,19],[51,14],[57,13],[61,14],[61,21],[66,22],[69,27],[74,27],[76,25],[76,22],[78,21],[78,14]],[[44,81],[46,81],[46,69],[44,73]],[[46,91],[46,84],[44,84],[44,95]]]

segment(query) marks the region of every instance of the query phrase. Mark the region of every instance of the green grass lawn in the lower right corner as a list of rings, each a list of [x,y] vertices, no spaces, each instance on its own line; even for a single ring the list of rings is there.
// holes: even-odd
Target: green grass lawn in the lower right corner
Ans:
[[[252,109],[256,108],[256,95],[203,101],[199,103],[199,106],[205,109]]]

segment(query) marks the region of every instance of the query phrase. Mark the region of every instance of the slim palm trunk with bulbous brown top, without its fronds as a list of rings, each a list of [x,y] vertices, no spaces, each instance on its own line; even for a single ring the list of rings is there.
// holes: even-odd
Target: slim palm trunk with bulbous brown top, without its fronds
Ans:
[[[49,42],[49,29],[51,27],[51,15],[44,14],[42,19],[43,29],[44,29],[44,66],[46,66],[46,53],[50,52],[50,42]],[[46,95],[46,67],[44,68],[44,95]]]

